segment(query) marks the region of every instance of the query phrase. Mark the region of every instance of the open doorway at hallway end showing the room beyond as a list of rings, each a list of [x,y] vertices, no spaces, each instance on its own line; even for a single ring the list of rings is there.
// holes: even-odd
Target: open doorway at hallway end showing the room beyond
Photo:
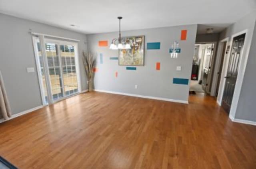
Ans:
[[[190,94],[207,93],[210,89],[214,43],[196,44],[190,81]]]

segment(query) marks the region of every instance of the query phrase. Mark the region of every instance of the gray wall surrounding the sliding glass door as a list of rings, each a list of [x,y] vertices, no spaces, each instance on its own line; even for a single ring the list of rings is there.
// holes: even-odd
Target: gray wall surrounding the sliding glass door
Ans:
[[[86,35],[0,14],[0,71],[13,114],[42,105],[37,73],[26,72],[26,67],[34,67],[36,70],[32,35],[28,33],[29,29],[80,40],[78,49],[82,90],[87,88],[81,58],[82,50],[86,49],[84,43]]]

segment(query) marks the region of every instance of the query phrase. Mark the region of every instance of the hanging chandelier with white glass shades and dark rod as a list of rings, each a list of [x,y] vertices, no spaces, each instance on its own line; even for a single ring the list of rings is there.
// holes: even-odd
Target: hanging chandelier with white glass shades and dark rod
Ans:
[[[121,38],[121,19],[122,16],[117,17],[119,20],[119,38],[115,38],[112,40],[112,43],[110,44],[109,49],[131,49],[130,42],[126,40],[125,38]]]

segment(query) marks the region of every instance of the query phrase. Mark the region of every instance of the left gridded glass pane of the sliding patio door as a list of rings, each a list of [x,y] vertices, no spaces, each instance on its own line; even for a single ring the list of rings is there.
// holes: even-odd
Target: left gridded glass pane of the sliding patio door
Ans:
[[[58,44],[45,43],[46,57],[50,74],[50,84],[53,100],[59,100],[64,97],[62,84],[62,76],[60,73],[60,55],[58,52]]]

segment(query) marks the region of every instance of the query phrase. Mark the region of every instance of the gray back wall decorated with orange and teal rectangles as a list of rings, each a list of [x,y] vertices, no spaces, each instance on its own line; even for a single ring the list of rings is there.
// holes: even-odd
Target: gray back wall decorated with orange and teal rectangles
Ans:
[[[186,41],[180,41],[182,29],[188,30]],[[118,32],[87,35],[88,49],[97,55],[103,53],[104,59],[103,64],[97,64],[99,71],[94,78],[95,89],[187,101],[189,85],[174,85],[172,79],[190,79],[196,29],[197,25],[190,25],[122,31],[124,37],[145,35],[144,66],[137,67],[136,71],[126,70],[126,66],[119,66],[118,61],[109,59],[118,56],[117,50],[98,47],[98,41],[108,40],[111,43],[118,37]],[[181,53],[178,59],[171,59],[168,51],[175,40],[180,43]],[[147,50],[147,42],[161,42],[160,50]],[[160,71],[156,71],[156,62],[161,64]],[[182,66],[182,71],[176,71],[176,66]],[[117,78],[114,77],[115,71],[118,71]]]

